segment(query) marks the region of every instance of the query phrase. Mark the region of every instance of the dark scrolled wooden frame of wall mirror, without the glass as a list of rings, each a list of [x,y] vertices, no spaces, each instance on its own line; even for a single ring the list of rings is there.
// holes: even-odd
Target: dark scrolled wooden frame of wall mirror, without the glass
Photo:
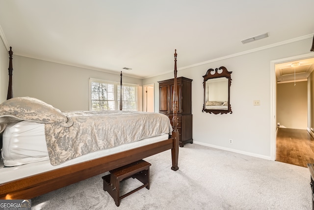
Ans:
[[[222,70],[221,73],[218,73],[218,70]],[[213,71],[213,74],[211,73]],[[203,87],[204,87],[204,104],[203,104],[203,110],[202,112],[207,112],[207,113],[213,113],[213,114],[227,114],[230,113],[232,114],[231,110],[231,105],[230,105],[230,86],[231,86],[231,73],[232,71],[228,71],[226,67],[221,66],[219,68],[209,68],[207,70],[206,74],[203,76],[204,82],[203,82]],[[220,77],[226,77],[228,79],[228,109],[206,109],[206,81],[209,79],[214,79],[214,78],[220,78]]]

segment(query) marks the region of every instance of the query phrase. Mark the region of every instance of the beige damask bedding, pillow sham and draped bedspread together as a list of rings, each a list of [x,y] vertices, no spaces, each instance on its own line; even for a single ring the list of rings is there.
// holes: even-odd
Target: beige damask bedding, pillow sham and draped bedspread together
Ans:
[[[47,149],[54,166],[90,152],[172,131],[169,118],[159,113],[61,112],[31,97],[16,97],[0,104],[0,132],[9,123],[22,120],[45,124]]]

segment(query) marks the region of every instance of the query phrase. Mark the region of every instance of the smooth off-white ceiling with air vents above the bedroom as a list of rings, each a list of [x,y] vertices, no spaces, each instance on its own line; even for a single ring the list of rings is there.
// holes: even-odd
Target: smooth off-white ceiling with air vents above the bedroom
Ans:
[[[0,0],[0,36],[15,55],[148,78],[173,71],[175,49],[181,70],[313,37],[313,8],[313,0]]]

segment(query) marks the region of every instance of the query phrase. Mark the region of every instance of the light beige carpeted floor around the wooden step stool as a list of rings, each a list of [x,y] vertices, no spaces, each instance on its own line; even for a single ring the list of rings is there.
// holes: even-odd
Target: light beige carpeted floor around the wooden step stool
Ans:
[[[117,207],[103,190],[102,176],[32,199],[33,210],[311,210],[307,168],[197,144],[180,148],[179,170],[171,153],[145,159],[150,189],[121,200]],[[138,181],[123,181],[125,192]]]

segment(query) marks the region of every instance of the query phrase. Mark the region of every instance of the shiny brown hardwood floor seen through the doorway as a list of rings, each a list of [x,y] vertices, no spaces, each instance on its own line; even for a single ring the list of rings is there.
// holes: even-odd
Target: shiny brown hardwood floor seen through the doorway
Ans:
[[[314,163],[314,138],[307,130],[279,128],[276,161],[307,167]]]

